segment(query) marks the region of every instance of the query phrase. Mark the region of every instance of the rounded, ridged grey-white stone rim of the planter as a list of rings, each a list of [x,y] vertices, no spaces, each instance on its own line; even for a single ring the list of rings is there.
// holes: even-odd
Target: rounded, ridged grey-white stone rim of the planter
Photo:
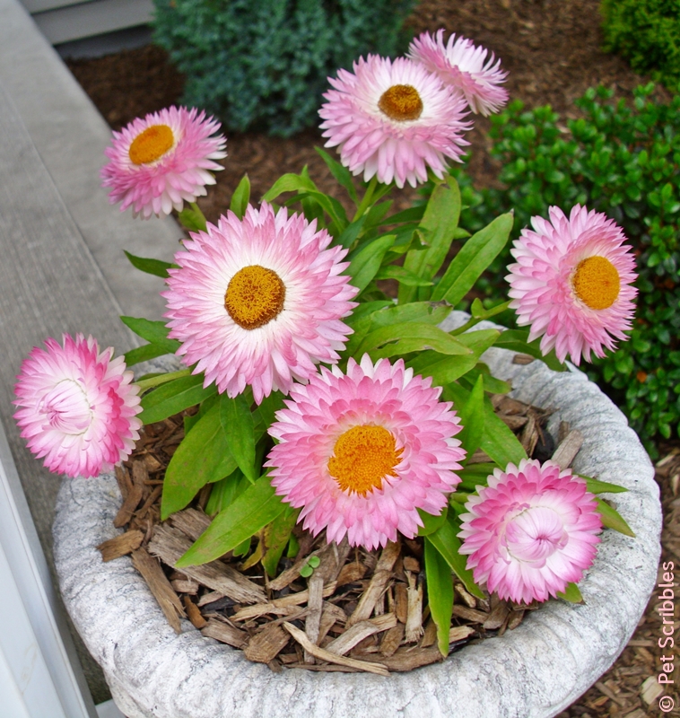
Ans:
[[[444,328],[467,318],[453,312]],[[477,328],[494,325],[483,322]],[[609,668],[649,599],[660,556],[661,507],[654,469],[623,414],[585,374],[512,363],[512,352],[483,357],[510,379],[513,396],[554,407],[584,434],[574,468],[626,486],[614,503],[636,538],[606,530],[580,583],[585,604],[549,601],[514,631],[466,646],[442,663],[382,678],[361,673],[283,670],[249,662],[205,638],[187,621],[176,635],[127,556],[102,564],[96,550],[118,533],[114,477],[65,479],[53,532],[66,609],[112,694],[129,718],[548,718]],[[460,707],[458,707],[460,706]]]

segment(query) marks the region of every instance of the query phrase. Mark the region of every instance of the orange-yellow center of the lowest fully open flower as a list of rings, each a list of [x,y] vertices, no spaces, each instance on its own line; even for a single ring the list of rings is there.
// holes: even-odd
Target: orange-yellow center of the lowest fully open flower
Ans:
[[[382,426],[353,426],[336,441],[328,460],[328,473],[343,491],[365,496],[382,486],[384,477],[396,477],[403,449]]]

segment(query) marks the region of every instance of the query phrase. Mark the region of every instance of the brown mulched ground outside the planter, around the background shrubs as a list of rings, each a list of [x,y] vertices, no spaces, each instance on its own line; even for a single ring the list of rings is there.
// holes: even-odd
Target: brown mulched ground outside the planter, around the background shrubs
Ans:
[[[632,72],[622,58],[601,50],[598,6],[598,0],[422,0],[408,25],[414,33],[443,27],[447,37],[449,32],[456,32],[484,45],[501,58],[501,66],[510,72],[506,87],[512,99],[524,101],[528,107],[550,103],[563,115],[576,117],[573,101],[588,87],[601,83],[626,97],[649,79]],[[149,46],[67,64],[114,129],[179,102],[182,76],[159,48]],[[475,129],[467,137],[472,143],[468,171],[478,186],[492,183],[498,169],[485,153],[490,144],[487,131],[488,121],[475,118]],[[230,134],[225,169],[217,175],[216,188],[199,205],[214,222],[229,206],[231,193],[245,172],[252,184],[252,197],[257,199],[283,172],[299,172],[305,164],[319,188],[330,191],[334,185],[326,165],[314,151],[315,145],[323,145],[316,129],[290,139]],[[413,197],[414,192],[405,191],[400,204],[408,206]],[[666,524],[663,561],[680,567],[680,448],[676,442],[660,446],[659,451],[662,460],[657,480]],[[659,577],[662,574],[663,571]],[[658,716],[661,695],[675,700],[676,707],[666,713],[680,714],[676,692],[658,692],[657,676],[662,670],[660,656],[664,651],[658,647],[662,624],[655,596],[656,593],[632,641],[612,669],[559,718]],[[666,654],[669,655],[668,649]],[[680,661],[676,661],[676,670],[669,679],[675,680],[674,686],[680,682]]]

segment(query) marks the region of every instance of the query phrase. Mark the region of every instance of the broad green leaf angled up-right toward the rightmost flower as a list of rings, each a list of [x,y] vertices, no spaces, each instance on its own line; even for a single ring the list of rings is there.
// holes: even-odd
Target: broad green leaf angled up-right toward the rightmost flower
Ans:
[[[449,264],[440,283],[432,292],[432,299],[443,299],[456,306],[505,247],[512,223],[511,213],[501,215],[473,234]]]

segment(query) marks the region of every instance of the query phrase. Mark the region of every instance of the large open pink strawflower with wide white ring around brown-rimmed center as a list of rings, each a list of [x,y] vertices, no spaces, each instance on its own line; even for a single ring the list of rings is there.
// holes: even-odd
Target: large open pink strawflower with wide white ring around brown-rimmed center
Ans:
[[[357,290],[340,274],[347,251],[327,249],[332,238],[316,221],[285,208],[275,215],[263,202],[191,237],[162,296],[169,336],[205,372],[205,386],[215,381],[235,397],[249,384],[259,404],[272,390],[287,393],[293,378],[309,379],[316,363],[338,360]]]

